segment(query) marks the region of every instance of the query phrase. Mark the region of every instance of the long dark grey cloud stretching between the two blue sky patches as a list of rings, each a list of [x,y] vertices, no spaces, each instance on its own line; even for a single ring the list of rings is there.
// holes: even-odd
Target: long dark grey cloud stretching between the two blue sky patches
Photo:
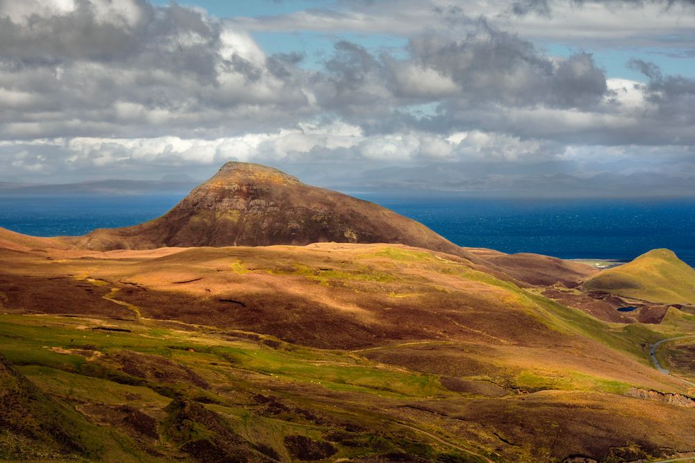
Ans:
[[[390,121],[402,126],[398,108],[423,103],[591,108],[607,95],[605,74],[591,55],[553,60],[484,22],[461,40],[419,35],[410,40],[409,51],[410,58],[399,60],[338,42],[312,87],[322,107],[359,116],[362,126],[377,117],[382,128]]]

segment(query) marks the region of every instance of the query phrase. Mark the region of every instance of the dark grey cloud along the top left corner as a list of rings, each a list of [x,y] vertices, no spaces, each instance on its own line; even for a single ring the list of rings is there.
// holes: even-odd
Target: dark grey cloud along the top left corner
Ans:
[[[109,11],[108,18],[100,18],[95,4],[78,0],[67,14],[33,14],[24,22],[0,16],[0,59],[26,67],[81,61],[152,67],[213,80],[218,24],[176,4],[155,10],[144,0],[133,0],[132,7],[129,15]],[[181,35],[198,41],[182,42]]]

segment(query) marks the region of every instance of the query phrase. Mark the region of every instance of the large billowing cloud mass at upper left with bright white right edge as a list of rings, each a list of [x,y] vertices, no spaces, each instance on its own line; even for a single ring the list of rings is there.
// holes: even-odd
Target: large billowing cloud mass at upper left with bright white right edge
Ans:
[[[55,8],[0,3],[0,137],[243,133],[312,113],[291,63],[197,10],[41,3]]]

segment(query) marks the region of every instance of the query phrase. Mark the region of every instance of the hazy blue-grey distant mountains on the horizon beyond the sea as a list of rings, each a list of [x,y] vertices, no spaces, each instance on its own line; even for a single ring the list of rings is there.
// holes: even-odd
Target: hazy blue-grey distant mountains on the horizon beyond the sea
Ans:
[[[605,168],[606,170],[603,170]],[[575,162],[492,165],[488,162],[436,163],[334,173],[320,165],[286,167],[307,182],[354,194],[457,194],[485,197],[645,197],[695,196],[689,169],[646,169],[630,164],[597,165],[588,171]],[[0,182],[0,196],[73,194],[186,194],[199,184],[186,174],[161,180],[95,180],[60,185]]]

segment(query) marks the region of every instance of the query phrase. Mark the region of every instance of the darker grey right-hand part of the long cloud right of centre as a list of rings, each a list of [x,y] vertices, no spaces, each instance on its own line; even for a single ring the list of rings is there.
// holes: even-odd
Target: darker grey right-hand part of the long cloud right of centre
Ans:
[[[420,65],[455,82],[467,103],[586,107],[607,90],[605,74],[591,55],[553,60],[532,43],[484,23],[463,40],[421,35],[409,47]]]

